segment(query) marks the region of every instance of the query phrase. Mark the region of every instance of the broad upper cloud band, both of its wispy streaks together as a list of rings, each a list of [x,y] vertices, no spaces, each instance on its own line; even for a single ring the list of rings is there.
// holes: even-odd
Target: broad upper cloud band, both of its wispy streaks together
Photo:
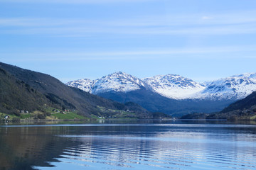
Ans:
[[[1,0],[0,0],[1,1]],[[83,37],[119,35],[229,35],[256,33],[256,11],[141,16],[112,20],[80,18],[0,18],[1,34]]]

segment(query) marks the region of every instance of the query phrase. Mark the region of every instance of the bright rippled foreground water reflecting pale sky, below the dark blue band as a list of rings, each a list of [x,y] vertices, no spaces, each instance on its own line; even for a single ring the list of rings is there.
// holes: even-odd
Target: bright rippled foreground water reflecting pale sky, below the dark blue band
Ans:
[[[63,135],[83,142],[69,147],[63,157],[73,164],[106,169],[255,169],[255,147],[220,142],[176,142],[157,137]],[[153,140],[154,138],[154,140]],[[143,141],[143,142],[142,142]],[[211,145],[213,144],[213,145]],[[239,156],[238,156],[239,155]],[[89,164],[90,163],[90,164]],[[89,165],[88,165],[89,164]],[[105,166],[102,166],[105,164]],[[203,168],[202,168],[203,167]]]

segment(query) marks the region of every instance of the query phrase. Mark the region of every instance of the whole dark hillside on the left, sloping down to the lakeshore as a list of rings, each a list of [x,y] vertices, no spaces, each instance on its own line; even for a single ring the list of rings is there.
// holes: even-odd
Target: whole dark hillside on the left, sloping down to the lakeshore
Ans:
[[[0,112],[18,115],[46,112],[48,108],[75,111],[86,118],[112,115],[154,118],[137,103],[118,103],[63,84],[48,74],[0,62]],[[161,117],[164,114],[159,113]]]

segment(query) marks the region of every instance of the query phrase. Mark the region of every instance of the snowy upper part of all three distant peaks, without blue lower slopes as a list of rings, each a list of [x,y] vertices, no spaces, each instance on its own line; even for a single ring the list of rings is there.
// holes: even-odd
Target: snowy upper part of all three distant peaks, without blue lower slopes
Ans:
[[[109,91],[126,93],[143,87],[172,99],[238,100],[245,98],[252,91],[256,91],[256,73],[239,74],[203,85],[176,74],[138,79],[124,72],[115,72],[101,79],[70,81],[68,86],[82,89],[91,94],[102,94]]]

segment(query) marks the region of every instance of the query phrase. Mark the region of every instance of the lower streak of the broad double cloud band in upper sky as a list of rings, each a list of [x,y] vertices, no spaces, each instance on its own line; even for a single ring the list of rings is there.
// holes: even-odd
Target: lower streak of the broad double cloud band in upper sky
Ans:
[[[12,28],[1,30],[0,34],[50,35],[63,37],[87,37],[94,34],[119,35],[230,35],[255,34],[256,23],[238,26],[212,26],[190,28],[104,28],[104,27],[62,27],[62,28]]]

